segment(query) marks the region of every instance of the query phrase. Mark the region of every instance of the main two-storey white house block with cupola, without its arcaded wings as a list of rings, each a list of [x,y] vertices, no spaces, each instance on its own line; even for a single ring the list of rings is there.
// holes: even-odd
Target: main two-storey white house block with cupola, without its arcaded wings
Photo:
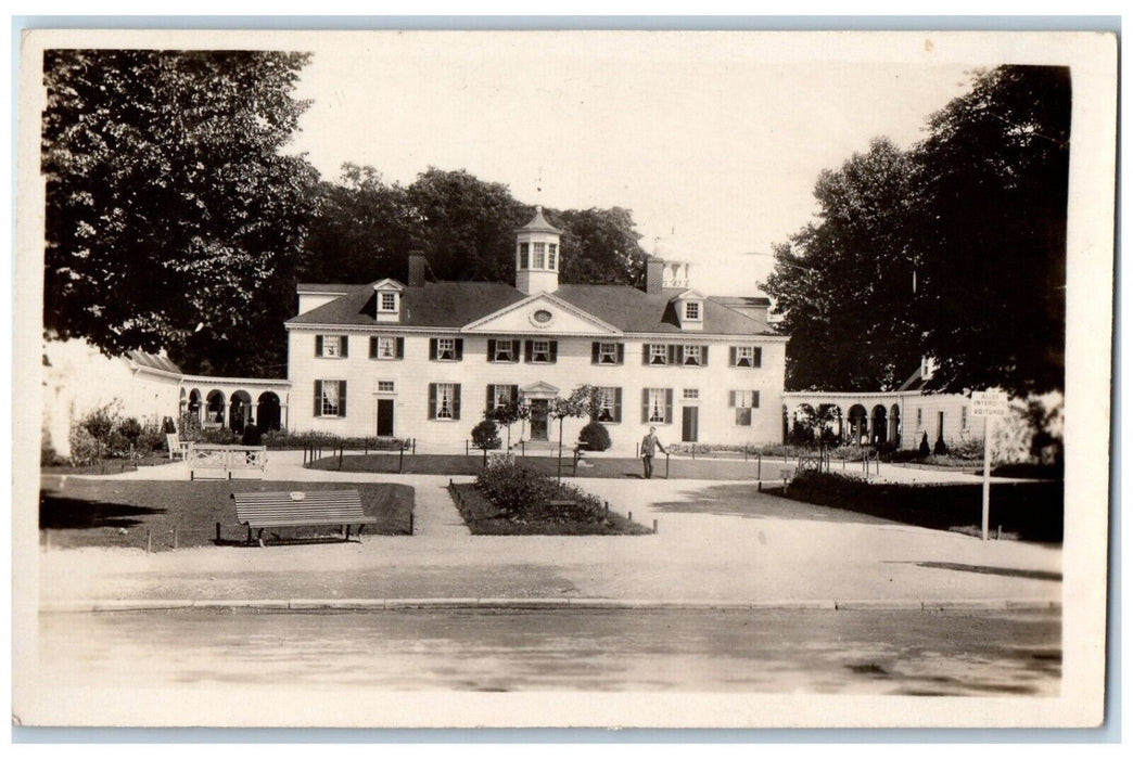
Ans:
[[[560,230],[542,208],[517,233],[514,287],[427,282],[300,284],[287,322],[288,425],[342,436],[460,445],[488,408],[529,404],[519,434],[557,437],[551,399],[604,390],[599,420],[614,449],[650,426],[663,442],[782,440],[786,336],[764,298],[693,289],[687,263],[651,257],[645,290],[560,284]],[[568,419],[572,441],[586,419]],[[557,425],[555,425],[557,427]]]

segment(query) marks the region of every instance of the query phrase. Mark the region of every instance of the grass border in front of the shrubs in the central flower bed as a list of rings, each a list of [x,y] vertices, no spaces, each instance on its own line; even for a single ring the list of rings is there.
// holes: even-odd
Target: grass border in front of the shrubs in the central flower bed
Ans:
[[[472,483],[450,488],[472,535],[648,535],[649,528],[611,513],[603,522],[573,519],[564,510],[533,509],[528,518],[508,519]]]

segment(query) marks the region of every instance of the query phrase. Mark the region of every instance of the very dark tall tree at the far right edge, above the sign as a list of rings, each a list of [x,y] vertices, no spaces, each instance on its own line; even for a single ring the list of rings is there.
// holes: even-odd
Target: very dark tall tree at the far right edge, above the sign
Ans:
[[[1064,386],[1070,69],[1007,66],[937,113],[915,239],[943,384]]]

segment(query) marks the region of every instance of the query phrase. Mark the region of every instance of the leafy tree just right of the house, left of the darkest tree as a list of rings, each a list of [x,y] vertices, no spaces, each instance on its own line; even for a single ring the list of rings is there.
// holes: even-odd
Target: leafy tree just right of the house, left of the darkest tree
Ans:
[[[906,225],[915,167],[884,139],[824,171],[818,222],[776,248],[765,290],[783,313],[787,387],[892,389],[919,363]]]

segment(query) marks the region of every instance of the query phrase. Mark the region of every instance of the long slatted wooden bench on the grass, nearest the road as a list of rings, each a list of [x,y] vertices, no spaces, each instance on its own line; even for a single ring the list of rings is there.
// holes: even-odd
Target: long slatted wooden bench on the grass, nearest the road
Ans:
[[[361,510],[358,491],[309,491],[306,493],[233,493],[236,519],[252,530],[258,530],[256,540],[264,545],[264,530],[276,527],[341,526],[343,541],[350,539],[350,527],[358,526],[361,536],[366,525],[377,523]]]

